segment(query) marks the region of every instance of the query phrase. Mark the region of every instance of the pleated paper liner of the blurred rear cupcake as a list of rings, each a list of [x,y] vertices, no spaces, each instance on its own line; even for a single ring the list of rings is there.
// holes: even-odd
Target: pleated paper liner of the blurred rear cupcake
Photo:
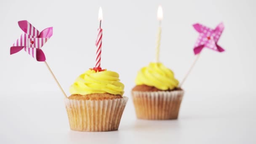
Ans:
[[[147,120],[177,119],[184,91],[132,91],[136,116]]]

